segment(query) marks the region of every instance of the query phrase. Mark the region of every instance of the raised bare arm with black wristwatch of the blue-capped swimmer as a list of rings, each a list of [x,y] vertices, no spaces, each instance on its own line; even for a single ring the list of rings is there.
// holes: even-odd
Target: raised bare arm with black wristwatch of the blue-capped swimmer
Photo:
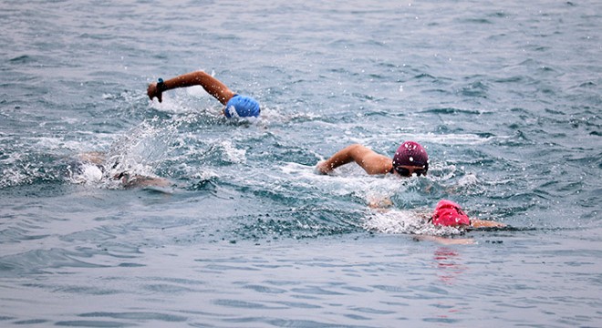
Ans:
[[[163,82],[163,87],[161,87],[161,89],[157,87],[156,83],[151,83],[147,89],[147,95],[149,95],[150,100],[152,100],[153,97],[157,97],[159,102],[161,102],[163,100],[163,91],[171,90],[177,87],[192,86],[203,87],[207,93],[215,97],[223,105],[225,105],[228,100],[235,95],[234,91],[232,91],[229,87],[226,87],[220,80],[203,71],[187,73],[179,77],[168,79]]]

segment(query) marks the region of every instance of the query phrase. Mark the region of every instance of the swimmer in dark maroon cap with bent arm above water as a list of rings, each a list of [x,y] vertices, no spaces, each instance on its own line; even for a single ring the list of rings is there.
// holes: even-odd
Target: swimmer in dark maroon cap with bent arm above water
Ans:
[[[320,174],[327,174],[341,165],[355,161],[368,174],[393,174],[400,177],[411,177],[414,174],[427,175],[429,155],[418,142],[406,141],[401,144],[391,160],[372,149],[354,144],[339,150],[330,159],[317,163]]]

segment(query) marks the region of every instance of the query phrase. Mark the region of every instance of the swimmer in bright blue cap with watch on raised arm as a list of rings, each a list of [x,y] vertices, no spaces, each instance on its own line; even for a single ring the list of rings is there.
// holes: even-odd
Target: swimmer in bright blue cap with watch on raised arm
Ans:
[[[259,103],[252,97],[241,96],[229,87],[226,87],[217,78],[210,76],[203,71],[196,71],[187,73],[179,77],[173,77],[171,79],[163,81],[159,78],[158,83],[151,83],[147,89],[147,95],[150,100],[157,97],[159,102],[163,101],[162,93],[167,90],[178,87],[192,87],[201,86],[219,102],[225,106],[223,108],[223,115],[226,118],[240,117],[258,117],[261,109]]]

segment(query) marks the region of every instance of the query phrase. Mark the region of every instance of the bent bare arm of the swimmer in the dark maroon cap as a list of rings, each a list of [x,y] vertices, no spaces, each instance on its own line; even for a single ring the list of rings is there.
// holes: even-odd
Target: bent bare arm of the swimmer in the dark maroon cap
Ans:
[[[352,161],[358,163],[368,174],[385,174],[393,167],[392,159],[362,145],[353,144],[337,151],[330,159],[318,163],[316,168],[320,173],[327,174]]]

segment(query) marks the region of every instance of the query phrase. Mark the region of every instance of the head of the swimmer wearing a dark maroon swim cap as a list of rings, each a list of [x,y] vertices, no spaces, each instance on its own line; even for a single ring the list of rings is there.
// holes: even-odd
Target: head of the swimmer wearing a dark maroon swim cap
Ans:
[[[429,155],[418,142],[406,141],[395,152],[393,169],[405,177],[410,177],[413,173],[418,176],[426,175],[429,170]]]

